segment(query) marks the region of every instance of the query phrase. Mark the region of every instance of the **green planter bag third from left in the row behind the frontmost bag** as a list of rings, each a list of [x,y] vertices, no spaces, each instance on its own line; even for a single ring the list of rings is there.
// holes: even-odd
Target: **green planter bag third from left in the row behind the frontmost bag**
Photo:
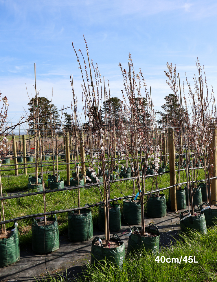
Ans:
[[[81,210],[80,214],[68,213],[69,240],[73,242],[87,241],[93,238],[93,220],[90,209]]]

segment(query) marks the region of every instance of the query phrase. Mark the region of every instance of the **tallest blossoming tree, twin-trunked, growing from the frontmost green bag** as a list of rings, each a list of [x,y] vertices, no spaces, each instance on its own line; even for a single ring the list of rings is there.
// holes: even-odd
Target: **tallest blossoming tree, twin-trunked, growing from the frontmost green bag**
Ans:
[[[86,41],[85,41],[86,43]],[[115,162],[112,158],[113,152],[115,148],[120,152],[122,151],[122,146],[120,142],[120,138],[116,138],[114,135],[115,127],[113,127],[110,131],[108,131],[108,127],[102,121],[101,113],[103,110],[103,96],[106,96],[105,100],[110,99],[110,91],[108,93],[106,91],[105,86],[103,86],[103,82],[101,79],[101,75],[98,70],[98,66],[94,66],[93,62],[90,63],[89,61],[89,54],[87,48],[87,57],[89,62],[89,71],[87,70],[87,65],[84,59],[84,55],[82,54],[81,50],[79,49],[81,60],[84,64],[84,70],[82,69],[82,63],[79,59],[78,53],[74,48],[72,42],[73,49],[75,51],[77,62],[79,64],[79,68],[81,70],[82,75],[82,102],[83,102],[83,111],[84,111],[84,118],[85,124],[89,126],[80,126],[77,120],[78,128],[77,130],[82,133],[84,131],[84,135],[91,137],[91,143],[88,143],[87,147],[85,148],[85,153],[88,155],[92,152],[91,149],[95,148],[95,154],[91,154],[88,157],[88,164],[85,167],[91,173],[91,178],[96,180],[96,185],[100,191],[100,195],[102,197],[104,203],[104,210],[105,210],[105,227],[106,227],[106,245],[109,242],[110,232],[109,232],[109,208],[110,204],[108,202],[110,197],[110,188],[112,185],[112,181],[110,181],[110,176],[115,169]],[[93,70],[94,75],[92,76],[91,68]],[[95,84],[95,86],[94,86]],[[94,88],[95,87],[95,88]],[[74,93],[74,89],[73,93]],[[108,107],[108,108],[107,108]],[[112,107],[111,103],[106,105],[108,109],[108,117],[112,119]],[[78,119],[77,113],[75,113],[75,119]],[[108,124],[114,124],[113,120],[109,120]],[[84,145],[84,140],[82,140]],[[109,147],[109,148],[108,148]],[[119,160],[117,159],[117,162]],[[99,180],[99,169],[100,169],[100,177],[103,178],[103,185],[100,185]],[[86,179],[91,181],[90,176],[86,176]]]

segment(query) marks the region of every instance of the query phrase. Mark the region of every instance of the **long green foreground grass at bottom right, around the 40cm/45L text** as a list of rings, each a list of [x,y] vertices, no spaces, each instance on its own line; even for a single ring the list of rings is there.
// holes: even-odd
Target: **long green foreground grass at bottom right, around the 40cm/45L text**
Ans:
[[[90,266],[82,274],[83,279],[77,282],[208,282],[217,281],[217,227],[208,230],[207,235],[191,233],[190,237],[182,236],[183,240],[174,246],[159,251],[159,258],[185,258],[195,256],[198,263],[157,263],[152,254],[144,252],[125,259],[122,269],[107,264]]]

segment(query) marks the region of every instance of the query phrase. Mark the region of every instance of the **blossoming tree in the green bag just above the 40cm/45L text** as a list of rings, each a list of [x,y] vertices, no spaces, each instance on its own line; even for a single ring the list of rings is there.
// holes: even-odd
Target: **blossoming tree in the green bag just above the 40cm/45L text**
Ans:
[[[135,72],[130,54],[129,61],[128,72],[121,64],[119,64],[124,82],[124,90],[122,90],[122,128],[124,128],[122,145],[129,153],[129,155],[125,155],[126,158],[129,158],[129,160],[130,158],[132,159],[131,165],[135,173],[136,184],[141,201],[141,235],[143,236],[145,232],[144,203],[146,202],[146,199],[144,194],[146,191],[146,169],[150,164],[150,166],[154,166],[155,171],[158,171],[160,164],[160,148],[159,144],[156,145],[153,142],[156,122],[152,101],[146,88],[144,76],[141,69],[139,69],[139,73]],[[123,120],[127,121],[126,125]],[[130,138],[128,138],[128,133],[130,134]],[[141,173],[139,168],[140,162],[143,165]],[[154,178],[152,187],[153,184]]]

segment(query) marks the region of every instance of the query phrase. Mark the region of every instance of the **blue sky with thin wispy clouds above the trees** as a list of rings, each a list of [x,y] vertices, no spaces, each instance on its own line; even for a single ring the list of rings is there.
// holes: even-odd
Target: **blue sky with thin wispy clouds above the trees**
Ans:
[[[73,74],[81,111],[81,76],[71,46],[85,53],[109,79],[111,96],[121,97],[122,74],[131,53],[152,87],[155,109],[170,93],[166,63],[176,64],[180,78],[191,80],[195,61],[205,66],[208,86],[217,91],[217,2],[184,0],[0,0],[0,90],[9,100],[9,118],[19,120],[34,95],[34,63],[40,95],[60,106],[72,100]],[[68,111],[69,112],[69,111]]]

